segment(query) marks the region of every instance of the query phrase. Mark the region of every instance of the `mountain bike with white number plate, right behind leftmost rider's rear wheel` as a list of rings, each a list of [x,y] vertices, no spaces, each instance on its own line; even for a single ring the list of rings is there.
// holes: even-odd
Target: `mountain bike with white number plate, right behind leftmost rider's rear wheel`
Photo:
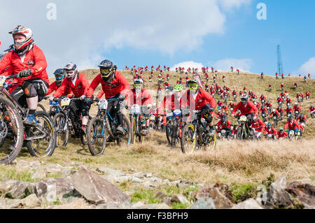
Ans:
[[[62,110],[53,118],[57,136],[57,147],[66,146],[69,140],[69,134],[72,132],[72,138],[80,138],[83,145],[87,145],[86,135],[81,127],[81,116],[76,113],[76,109],[71,105],[71,101],[78,101],[80,98],[55,99],[59,101]],[[89,117],[91,119],[91,117]]]

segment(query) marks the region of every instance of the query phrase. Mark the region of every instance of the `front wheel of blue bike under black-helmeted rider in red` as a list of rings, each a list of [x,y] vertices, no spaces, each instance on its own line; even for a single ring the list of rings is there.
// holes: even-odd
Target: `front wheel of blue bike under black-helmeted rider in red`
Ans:
[[[100,156],[106,147],[106,126],[101,117],[94,117],[87,125],[87,146],[92,156]]]

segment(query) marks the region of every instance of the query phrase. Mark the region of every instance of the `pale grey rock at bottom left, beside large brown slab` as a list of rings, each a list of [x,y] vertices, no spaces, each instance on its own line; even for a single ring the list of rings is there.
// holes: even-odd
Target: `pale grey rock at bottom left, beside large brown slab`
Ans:
[[[71,178],[48,178],[34,183],[33,191],[41,201],[57,201],[64,195],[73,193]]]

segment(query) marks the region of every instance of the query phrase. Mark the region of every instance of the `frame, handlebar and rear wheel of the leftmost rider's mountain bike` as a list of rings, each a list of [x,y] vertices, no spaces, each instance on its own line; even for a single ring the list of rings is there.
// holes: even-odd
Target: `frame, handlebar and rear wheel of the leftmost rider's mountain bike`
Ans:
[[[17,75],[0,76],[0,83],[3,86],[4,82],[10,78],[17,78]],[[22,120],[26,120],[29,115],[29,110],[20,106],[13,96],[4,88],[0,87],[0,94],[6,97],[16,108],[18,115]],[[23,124],[24,143],[34,157],[50,157],[55,151],[56,137],[55,128],[49,115],[43,111],[36,111],[34,114],[36,124],[29,126]],[[14,131],[14,130],[13,130]],[[20,145],[20,141],[17,142]],[[22,145],[22,147],[23,147]]]

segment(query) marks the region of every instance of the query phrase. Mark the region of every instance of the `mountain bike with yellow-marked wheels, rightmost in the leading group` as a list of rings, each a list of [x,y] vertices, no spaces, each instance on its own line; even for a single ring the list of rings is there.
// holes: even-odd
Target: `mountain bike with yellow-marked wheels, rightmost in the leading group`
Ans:
[[[181,151],[184,154],[200,150],[202,146],[216,147],[216,133],[210,134],[207,121],[202,111],[193,111],[193,121],[183,127],[181,134]]]

